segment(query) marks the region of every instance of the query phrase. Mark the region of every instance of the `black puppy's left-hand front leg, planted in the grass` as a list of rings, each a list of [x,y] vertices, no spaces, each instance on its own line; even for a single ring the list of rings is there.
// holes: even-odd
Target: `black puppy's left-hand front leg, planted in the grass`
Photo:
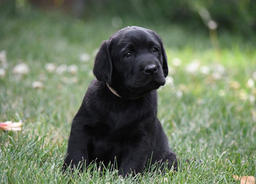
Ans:
[[[79,162],[83,164],[81,170],[89,165],[88,159],[88,137],[86,136],[82,124],[79,122],[72,122],[70,131],[67,156],[64,160],[63,170],[71,164],[71,168],[76,167]],[[86,162],[86,165],[84,164]]]

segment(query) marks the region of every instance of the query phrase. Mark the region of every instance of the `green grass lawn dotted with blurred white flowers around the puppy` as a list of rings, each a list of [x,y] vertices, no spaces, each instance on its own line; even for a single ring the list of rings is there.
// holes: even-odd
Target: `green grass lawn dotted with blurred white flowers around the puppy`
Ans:
[[[256,97],[255,85],[246,85],[256,71],[255,37],[244,40],[221,32],[217,51],[207,30],[138,20],[123,20],[122,27],[133,24],[156,30],[164,40],[174,84],[158,90],[158,118],[170,147],[182,159],[202,162],[183,163],[177,173],[147,172],[125,179],[116,172],[101,177],[93,165],[90,172],[62,175],[71,121],[94,78],[93,52],[119,28],[107,17],[82,21],[31,10],[12,17],[0,14],[0,50],[7,51],[9,65],[0,77],[0,121],[24,122],[22,131],[0,132],[1,183],[237,183],[233,174],[256,175],[256,104],[246,98]],[[81,53],[91,59],[80,61]],[[182,60],[180,66],[173,66],[174,57]],[[210,73],[187,73],[194,59],[209,66]],[[12,69],[21,62],[30,71],[16,76]],[[78,72],[49,73],[45,63],[75,64]],[[216,80],[217,63],[225,71]],[[77,82],[66,82],[72,77]],[[38,80],[42,89],[32,87]],[[239,82],[237,89],[233,81]]]

